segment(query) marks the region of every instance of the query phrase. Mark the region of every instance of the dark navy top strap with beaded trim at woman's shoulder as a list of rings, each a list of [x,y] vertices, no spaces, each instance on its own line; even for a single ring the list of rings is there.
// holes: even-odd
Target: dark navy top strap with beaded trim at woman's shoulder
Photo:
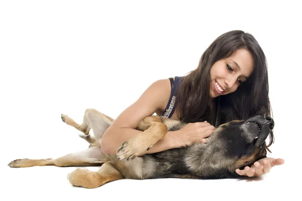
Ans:
[[[171,95],[169,98],[169,102],[167,104],[167,107],[165,109],[165,111],[162,113],[161,117],[163,118],[171,118],[174,111],[175,111],[175,99],[176,96],[174,95],[178,86],[179,86],[179,82],[182,79],[182,77],[177,77],[175,76],[175,80],[173,80],[173,78],[169,78],[170,79],[170,83],[171,83]]]

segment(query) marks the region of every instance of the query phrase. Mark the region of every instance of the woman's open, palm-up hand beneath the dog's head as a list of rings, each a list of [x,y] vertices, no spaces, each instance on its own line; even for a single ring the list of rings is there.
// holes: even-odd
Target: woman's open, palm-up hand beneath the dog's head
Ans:
[[[284,160],[281,158],[262,158],[256,161],[251,167],[246,166],[243,170],[236,169],[237,174],[242,176],[261,176],[270,171],[275,165],[282,165]]]

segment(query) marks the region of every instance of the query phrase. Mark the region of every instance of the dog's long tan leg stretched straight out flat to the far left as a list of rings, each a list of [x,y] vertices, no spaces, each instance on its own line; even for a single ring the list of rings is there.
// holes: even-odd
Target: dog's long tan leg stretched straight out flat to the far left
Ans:
[[[101,147],[91,147],[84,151],[70,153],[57,159],[17,159],[9,163],[10,167],[32,167],[55,165],[58,167],[69,166],[99,166],[106,162]]]

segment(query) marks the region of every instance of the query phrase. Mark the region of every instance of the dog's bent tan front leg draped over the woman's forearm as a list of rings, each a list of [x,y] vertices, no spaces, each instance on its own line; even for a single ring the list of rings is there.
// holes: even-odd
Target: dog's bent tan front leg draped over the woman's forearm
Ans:
[[[160,117],[156,116],[144,118],[137,129],[146,130],[125,141],[122,146],[117,149],[118,159],[134,159],[136,156],[149,150],[168,132],[167,126],[162,122]]]

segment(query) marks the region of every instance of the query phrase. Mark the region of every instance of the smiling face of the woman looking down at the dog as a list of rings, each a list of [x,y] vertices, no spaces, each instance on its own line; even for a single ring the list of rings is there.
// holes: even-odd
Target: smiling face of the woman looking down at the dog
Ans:
[[[253,69],[254,58],[247,49],[239,49],[230,57],[216,61],[210,71],[210,96],[214,98],[236,91]]]

